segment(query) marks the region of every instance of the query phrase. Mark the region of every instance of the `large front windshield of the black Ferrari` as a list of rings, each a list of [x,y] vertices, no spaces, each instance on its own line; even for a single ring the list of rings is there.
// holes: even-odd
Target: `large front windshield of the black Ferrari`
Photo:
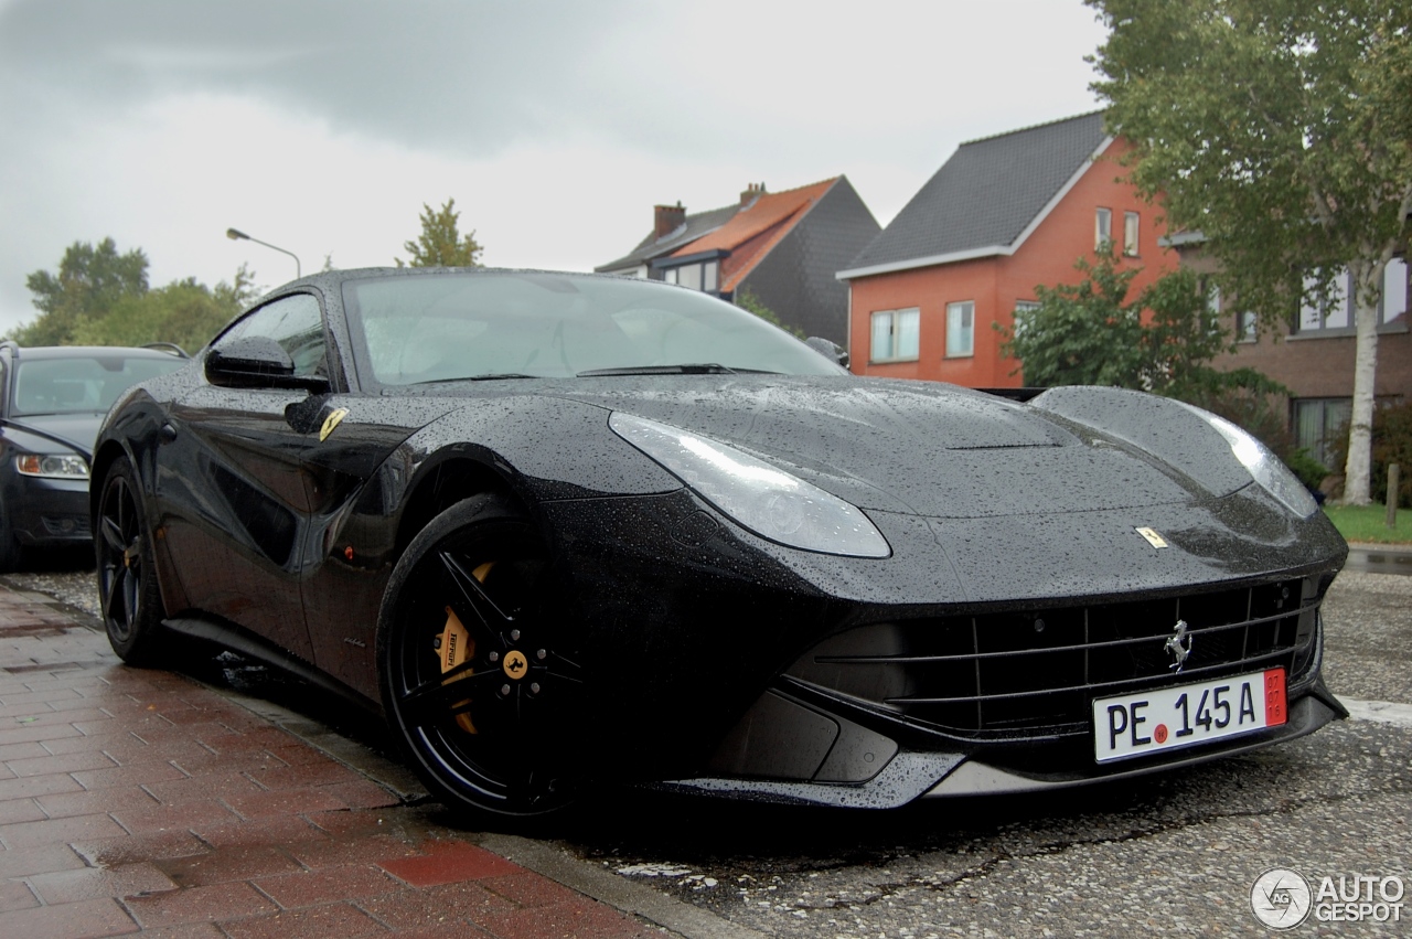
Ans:
[[[844,374],[738,306],[628,278],[487,271],[343,284],[360,370],[380,385],[754,371]],[[359,335],[361,332],[361,335]]]

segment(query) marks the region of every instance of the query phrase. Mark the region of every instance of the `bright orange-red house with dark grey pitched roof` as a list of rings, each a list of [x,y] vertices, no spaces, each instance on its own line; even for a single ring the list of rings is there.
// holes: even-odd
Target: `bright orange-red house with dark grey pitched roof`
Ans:
[[[1000,354],[1035,285],[1076,282],[1075,261],[1111,240],[1142,271],[1139,292],[1178,264],[1158,212],[1117,178],[1127,144],[1080,114],[962,144],[846,270],[858,374],[973,388],[1024,384]]]

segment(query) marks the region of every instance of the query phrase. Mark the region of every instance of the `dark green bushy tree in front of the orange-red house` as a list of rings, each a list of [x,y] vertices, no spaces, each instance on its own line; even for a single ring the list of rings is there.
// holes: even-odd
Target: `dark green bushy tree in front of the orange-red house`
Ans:
[[[1231,388],[1260,394],[1279,385],[1258,371],[1211,367],[1234,337],[1221,330],[1196,275],[1178,270],[1128,301],[1139,267],[1120,267],[1113,246],[1094,261],[1079,258],[1077,284],[1035,287],[1039,306],[1015,313],[1001,332],[1001,353],[1018,359],[1025,384],[1103,384],[1187,401],[1210,401]]]

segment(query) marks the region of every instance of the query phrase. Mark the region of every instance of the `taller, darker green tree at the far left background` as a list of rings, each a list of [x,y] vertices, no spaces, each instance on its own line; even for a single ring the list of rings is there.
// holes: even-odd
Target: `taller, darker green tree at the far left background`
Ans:
[[[34,271],[25,285],[40,315],[11,337],[25,346],[69,345],[83,323],[147,292],[147,256],[141,249],[119,254],[113,239],[97,247],[75,241],[64,251],[58,273]]]

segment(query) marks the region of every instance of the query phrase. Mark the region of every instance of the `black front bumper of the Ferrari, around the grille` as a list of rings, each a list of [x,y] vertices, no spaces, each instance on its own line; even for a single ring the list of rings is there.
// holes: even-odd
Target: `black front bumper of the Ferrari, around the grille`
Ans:
[[[1291,652],[1285,665],[1286,726],[1118,767],[1093,768],[1091,741],[1072,723],[956,733],[856,689],[839,693],[789,675],[825,640],[874,624],[1291,580],[1322,596],[1346,555],[1343,541],[1319,515],[1289,518],[1258,487],[1195,506],[983,522],[870,511],[894,549],[885,559],[775,545],[689,490],[541,510],[570,604],[565,618],[576,624],[576,652],[593,676],[575,714],[575,736],[586,741],[579,764],[590,777],[881,808],[933,791],[1049,788],[1183,765],[1339,716],[1332,696],[1315,692],[1312,613],[1302,617],[1305,652]],[[1172,546],[1148,548],[1134,532],[1141,525],[1169,535]],[[765,713],[755,713],[761,702]],[[970,768],[955,775],[962,767]]]

